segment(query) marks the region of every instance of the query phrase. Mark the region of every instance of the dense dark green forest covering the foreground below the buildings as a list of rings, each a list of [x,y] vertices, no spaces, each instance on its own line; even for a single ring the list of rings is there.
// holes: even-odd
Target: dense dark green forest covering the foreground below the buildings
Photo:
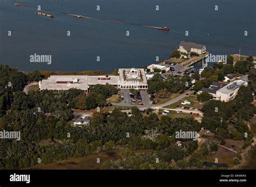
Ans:
[[[73,109],[105,106],[105,99],[117,90],[111,85],[96,85],[87,95],[76,89],[59,93],[34,90],[27,95],[23,88],[29,78],[30,81],[40,80],[38,72],[25,74],[1,65],[0,130],[20,131],[21,140],[0,140],[0,169],[27,168],[39,164],[39,160],[51,163],[117,147],[148,149],[152,154],[125,150],[123,159],[106,161],[98,169],[203,168],[207,155],[216,151],[219,143],[223,145],[226,138],[244,140],[244,147],[251,144],[253,135],[245,121],[256,113],[251,104],[252,91],[256,89],[256,70],[251,69],[248,74],[249,85],[241,87],[235,99],[226,103],[210,100],[204,105],[201,123],[193,117],[159,117],[152,109],[140,111],[133,107],[131,116],[119,109],[112,113],[94,112],[89,126],[76,127],[71,125]],[[187,77],[181,81],[187,82]],[[214,137],[200,147],[198,141],[175,138],[177,131],[199,132],[202,127],[212,131]],[[55,142],[42,145],[41,141],[47,139]],[[181,146],[177,145],[178,141]]]

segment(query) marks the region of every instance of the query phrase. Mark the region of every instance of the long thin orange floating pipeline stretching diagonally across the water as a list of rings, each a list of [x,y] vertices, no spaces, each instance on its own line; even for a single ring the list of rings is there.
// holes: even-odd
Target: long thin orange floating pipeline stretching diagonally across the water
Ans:
[[[22,7],[25,7],[25,8],[36,9],[35,7],[26,6],[26,5],[19,4],[19,3],[15,3],[14,5],[22,6]],[[55,11],[51,11],[51,10],[45,10],[45,11],[55,12]],[[74,17],[77,17],[77,18],[95,19],[95,20],[100,20],[100,21],[109,21],[109,22],[112,22],[112,23],[136,25],[136,26],[142,26],[142,27],[147,27],[147,28],[156,28],[158,30],[169,31],[168,27],[156,27],[156,26],[139,25],[139,24],[127,23],[127,22],[124,22],[124,21],[117,21],[117,20],[111,20],[111,19],[102,19],[102,18],[93,18],[93,17],[82,16],[82,15],[74,15],[74,14],[71,14],[71,13],[64,13],[64,12],[57,12],[57,13],[62,13],[64,15],[74,16]],[[40,13],[36,13],[36,14],[40,14]],[[52,18],[53,18],[53,16],[52,16]]]

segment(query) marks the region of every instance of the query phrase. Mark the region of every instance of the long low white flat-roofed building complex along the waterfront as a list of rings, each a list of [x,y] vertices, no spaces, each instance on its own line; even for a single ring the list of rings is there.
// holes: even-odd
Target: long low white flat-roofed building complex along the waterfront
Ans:
[[[40,90],[69,90],[76,88],[88,92],[96,84],[110,84],[118,89],[147,89],[144,69],[119,69],[119,76],[112,75],[51,75],[39,82]]]

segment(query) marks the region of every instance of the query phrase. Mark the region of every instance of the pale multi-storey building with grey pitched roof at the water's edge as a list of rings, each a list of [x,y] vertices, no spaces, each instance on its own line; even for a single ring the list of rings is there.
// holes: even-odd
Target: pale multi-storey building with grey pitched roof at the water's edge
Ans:
[[[196,53],[199,56],[206,53],[206,46],[192,42],[181,41],[178,51],[181,53],[181,57],[187,59],[190,58],[191,53]]]

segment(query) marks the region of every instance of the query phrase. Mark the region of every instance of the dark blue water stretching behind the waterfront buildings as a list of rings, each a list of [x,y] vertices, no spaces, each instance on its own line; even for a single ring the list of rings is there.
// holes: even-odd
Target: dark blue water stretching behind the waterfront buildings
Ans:
[[[41,5],[53,11],[41,12],[55,18],[34,15],[37,10],[14,3]],[[96,11],[97,5],[100,11]],[[214,11],[215,5],[219,11]],[[255,8],[255,0],[0,0],[0,63],[26,71],[112,71],[146,66],[154,63],[156,56],[164,60],[182,40],[204,44],[212,54],[237,54],[241,46],[241,54],[256,55]],[[170,31],[54,11],[168,26]],[[12,31],[11,37],[8,31]],[[70,37],[67,31],[71,31]],[[130,37],[126,37],[126,31],[130,31]],[[185,31],[189,31],[188,37]],[[248,37],[244,37],[244,31],[248,31]],[[31,63],[29,56],[34,53],[52,55],[52,63]]]

